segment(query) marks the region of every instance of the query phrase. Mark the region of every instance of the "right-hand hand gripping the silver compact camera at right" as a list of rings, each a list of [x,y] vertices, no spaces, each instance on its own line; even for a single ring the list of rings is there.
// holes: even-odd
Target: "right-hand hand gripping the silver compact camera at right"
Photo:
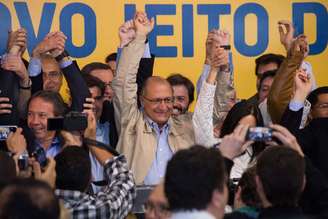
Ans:
[[[302,151],[301,146],[298,144],[297,139],[294,135],[292,135],[288,129],[281,125],[270,125],[274,131],[272,132],[272,136],[278,138],[282,144],[286,147],[289,147],[295,151],[297,151],[302,157],[304,157],[304,153]]]

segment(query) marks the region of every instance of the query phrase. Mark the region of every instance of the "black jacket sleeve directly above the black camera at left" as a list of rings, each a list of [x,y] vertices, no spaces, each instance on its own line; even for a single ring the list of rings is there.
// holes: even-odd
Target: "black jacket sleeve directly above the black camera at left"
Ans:
[[[76,61],[73,61],[71,65],[63,68],[62,71],[71,92],[71,110],[82,112],[85,98],[90,97],[91,95]]]

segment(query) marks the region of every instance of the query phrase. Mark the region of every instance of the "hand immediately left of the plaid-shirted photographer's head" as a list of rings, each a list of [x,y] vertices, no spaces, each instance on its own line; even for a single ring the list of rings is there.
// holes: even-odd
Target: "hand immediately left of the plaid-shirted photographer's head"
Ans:
[[[56,188],[56,161],[53,158],[48,158],[48,164],[43,172],[39,162],[36,160],[33,161],[32,167],[36,179],[48,183],[53,189]]]

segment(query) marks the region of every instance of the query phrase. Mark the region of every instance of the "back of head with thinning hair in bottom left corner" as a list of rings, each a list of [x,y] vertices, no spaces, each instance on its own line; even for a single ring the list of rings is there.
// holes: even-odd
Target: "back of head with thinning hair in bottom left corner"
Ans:
[[[58,219],[59,202],[50,186],[31,178],[16,179],[0,193],[0,218]]]

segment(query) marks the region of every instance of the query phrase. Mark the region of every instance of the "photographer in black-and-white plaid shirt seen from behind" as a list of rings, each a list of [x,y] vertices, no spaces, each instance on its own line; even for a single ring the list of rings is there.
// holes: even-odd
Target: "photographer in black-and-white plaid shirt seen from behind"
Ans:
[[[135,187],[123,155],[113,157],[106,150],[89,147],[104,167],[107,185],[94,195],[87,194],[91,182],[88,153],[68,146],[56,157],[56,195],[73,218],[124,218],[132,208]]]

